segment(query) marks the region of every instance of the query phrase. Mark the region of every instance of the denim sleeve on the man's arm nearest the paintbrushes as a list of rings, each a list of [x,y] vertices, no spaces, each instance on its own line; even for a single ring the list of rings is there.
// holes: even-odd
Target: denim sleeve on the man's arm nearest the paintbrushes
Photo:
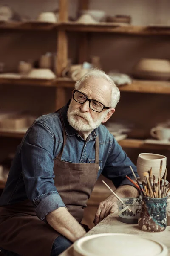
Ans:
[[[126,178],[126,175],[131,179],[134,179],[133,174],[130,170],[132,166],[133,171],[136,174],[136,177],[139,177],[137,174],[136,166],[132,163],[122,147],[117,143],[113,137],[113,143],[108,154],[108,158],[105,163],[105,167],[102,171],[102,174],[108,179],[112,180],[114,186],[118,188],[121,185],[131,185],[134,186],[130,180]]]

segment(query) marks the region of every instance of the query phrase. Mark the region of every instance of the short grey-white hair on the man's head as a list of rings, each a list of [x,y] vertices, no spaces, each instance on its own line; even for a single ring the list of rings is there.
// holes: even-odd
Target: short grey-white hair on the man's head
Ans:
[[[97,78],[103,78],[106,81],[108,81],[111,84],[111,101],[110,101],[110,107],[115,108],[117,103],[119,102],[120,99],[120,91],[116,84],[114,83],[113,79],[111,76],[108,76],[104,71],[93,68],[90,71],[88,71],[84,76],[82,76],[79,81],[76,82],[75,84],[75,89],[78,90],[80,85],[84,82],[87,81],[90,77],[97,77]]]

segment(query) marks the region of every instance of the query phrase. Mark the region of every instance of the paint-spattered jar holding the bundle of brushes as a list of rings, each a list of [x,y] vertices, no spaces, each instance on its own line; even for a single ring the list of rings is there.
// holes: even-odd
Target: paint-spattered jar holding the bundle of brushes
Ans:
[[[167,227],[167,197],[150,198],[142,195],[139,228],[148,232],[161,232]]]

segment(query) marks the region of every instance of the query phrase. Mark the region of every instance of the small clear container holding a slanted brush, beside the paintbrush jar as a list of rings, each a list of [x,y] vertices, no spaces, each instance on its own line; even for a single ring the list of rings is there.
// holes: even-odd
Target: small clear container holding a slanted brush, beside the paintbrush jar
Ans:
[[[131,212],[126,209],[124,212],[118,214],[119,221],[127,223],[127,224],[137,224],[138,218],[141,213],[141,199],[140,198],[121,198],[121,200],[125,203],[122,204],[119,201],[117,205],[119,207],[119,212],[122,211],[123,208],[129,206]],[[126,206],[125,206],[126,205]]]

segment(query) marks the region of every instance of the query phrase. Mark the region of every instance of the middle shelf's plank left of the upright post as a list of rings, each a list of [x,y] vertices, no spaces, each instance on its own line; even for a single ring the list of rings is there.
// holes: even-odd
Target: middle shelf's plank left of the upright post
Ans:
[[[11,84],[11,85],[31,85],[31,86],[54,86],[56,79],[28,79],[28,78],[2,78],[0,77],[0,84]]]

